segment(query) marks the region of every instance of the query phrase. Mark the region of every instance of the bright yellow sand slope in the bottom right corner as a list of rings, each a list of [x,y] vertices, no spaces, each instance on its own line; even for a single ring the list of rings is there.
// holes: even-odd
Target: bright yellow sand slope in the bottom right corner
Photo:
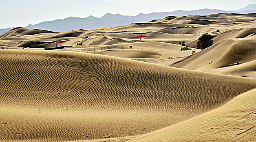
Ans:
[[[221,108],[129,142],[255,142],[256,89]]]

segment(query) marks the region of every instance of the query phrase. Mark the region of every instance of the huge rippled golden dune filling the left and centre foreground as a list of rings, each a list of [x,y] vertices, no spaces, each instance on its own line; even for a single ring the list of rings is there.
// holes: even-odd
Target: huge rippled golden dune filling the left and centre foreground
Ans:
[[[216,109],[254,79],[97,54],[0,50],[0,140],[136,136]]]

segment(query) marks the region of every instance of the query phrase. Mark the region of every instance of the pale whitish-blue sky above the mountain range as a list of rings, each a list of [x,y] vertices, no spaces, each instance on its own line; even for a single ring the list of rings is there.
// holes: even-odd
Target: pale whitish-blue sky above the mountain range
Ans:
[[[139,13],[176,10],[238,10],[255,0],[0,0],[0,29],[73,17],[102,17],[106,13],[136,16]]]

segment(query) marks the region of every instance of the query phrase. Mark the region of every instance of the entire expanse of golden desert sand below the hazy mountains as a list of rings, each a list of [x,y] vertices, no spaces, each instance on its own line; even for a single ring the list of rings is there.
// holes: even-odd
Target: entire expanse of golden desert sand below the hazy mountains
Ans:
[[[255,27],[252,13],[9,30],[0,35],[0,141],[255,141]],[[205,32],[214,44],[196,49]]]

